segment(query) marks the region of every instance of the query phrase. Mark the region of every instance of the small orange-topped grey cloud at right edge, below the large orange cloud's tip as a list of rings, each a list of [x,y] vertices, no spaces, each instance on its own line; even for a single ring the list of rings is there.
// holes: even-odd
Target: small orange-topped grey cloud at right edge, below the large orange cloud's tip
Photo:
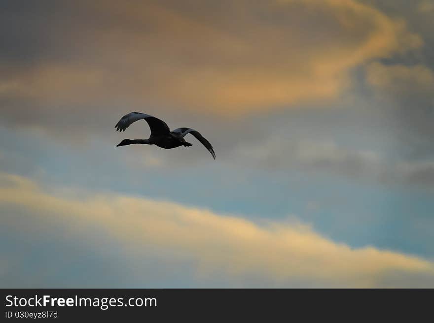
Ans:
[[[387,116],[391,133],[400,140],[399,149],[412,159],[432,158],[433,69],[422,64],[372,63],[366,69],[366,80]]]

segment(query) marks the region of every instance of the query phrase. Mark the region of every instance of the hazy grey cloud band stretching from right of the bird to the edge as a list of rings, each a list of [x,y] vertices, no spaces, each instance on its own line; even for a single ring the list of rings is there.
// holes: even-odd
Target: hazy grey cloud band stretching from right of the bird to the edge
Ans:
[[[333,140],[294,140],[274,134],[260,144],[236,146],[232,154],[274,171],[298,169],[385,184],[434,187],[432,159],[388,159],[376,151],[345,147]]]

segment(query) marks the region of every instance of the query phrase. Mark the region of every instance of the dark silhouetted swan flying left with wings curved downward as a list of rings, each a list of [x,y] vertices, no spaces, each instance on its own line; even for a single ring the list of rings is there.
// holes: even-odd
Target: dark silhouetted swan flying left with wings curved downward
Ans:
[[[186,142],[184,136],[187,133],[191,133],[195,136],[211,153],[214,159],[216,159],[216,153],[211,143],[202,137],[199,131],[191,128],[178,128],[170,131],[167,124],[153,116],[140,112],[131,112],[124,115],[116,124],[116,131],[125,131],[133,122],[145,119],[149,128],[151,129],[151,135],[148,139],[124,139],[116,147],[126,146],[131,144],[147,144],[155,145],[164,149],[172,149],[180,146],[188,147],[192,146],[189,142]]]

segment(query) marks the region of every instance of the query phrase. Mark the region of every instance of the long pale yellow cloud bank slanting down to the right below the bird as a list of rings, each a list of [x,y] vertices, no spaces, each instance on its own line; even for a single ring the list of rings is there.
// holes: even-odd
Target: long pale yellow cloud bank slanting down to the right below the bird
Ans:
[[[414,277],[434,276],[434,264],[428,260],[370,246],[351,248],[296,222],[259,225],[167,201],[114,194],[83,196],[47,191],[26,178],[2,174],[0,205],[8,214],[2,226],[14,227],[29,242],[41,238],[44,223],[57,224],[63,231],[59,236],[71,239],[98,227],[105,232],[102,236],[111,237],[132,258],[140,258],[142,250],[160,250],[163,258],[176,254],[192,260],[195,280],[205,285],[223,276],[246,287],[262,286],[264,281],[280,287],[297,282],[374,287],[383,286],[384,275],[391,274],[394,286],[412,286]],[[27,220],[15,223],[16,212],[24,212]],[[88,238],[90,244],[98,242],[98,236]],[[128,265],[123,262],[123,267]]]

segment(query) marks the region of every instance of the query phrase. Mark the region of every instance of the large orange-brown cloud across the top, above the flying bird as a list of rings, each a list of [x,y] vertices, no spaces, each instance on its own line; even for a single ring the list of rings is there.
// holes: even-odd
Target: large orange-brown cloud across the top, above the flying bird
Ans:
[[[12,124],[49,127],[83,113],[86,123],[119,106],[227,116],[330,101],[352,68],[422,44],[402,21],[355,0],[54,8],[36,7],[32,19],[13,4],[4,10],[0,109]]]

